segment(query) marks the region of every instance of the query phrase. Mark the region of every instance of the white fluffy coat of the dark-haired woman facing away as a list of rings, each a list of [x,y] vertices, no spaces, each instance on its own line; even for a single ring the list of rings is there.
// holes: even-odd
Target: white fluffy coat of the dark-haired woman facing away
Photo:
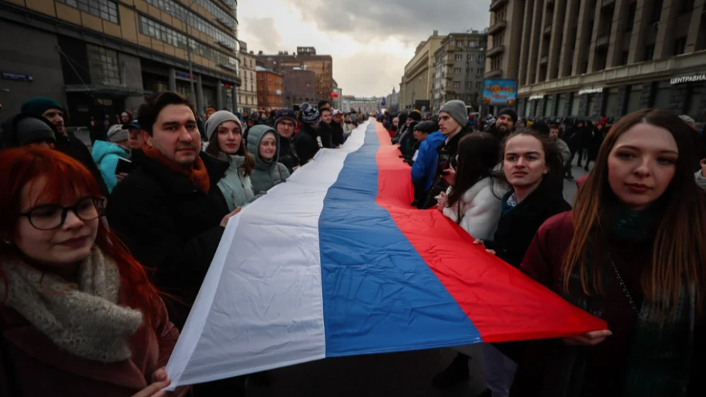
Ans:
[[[476,239],[492,239],[500,222],[500,198],[488,186],[477,194],[463,215],[460,226]]]

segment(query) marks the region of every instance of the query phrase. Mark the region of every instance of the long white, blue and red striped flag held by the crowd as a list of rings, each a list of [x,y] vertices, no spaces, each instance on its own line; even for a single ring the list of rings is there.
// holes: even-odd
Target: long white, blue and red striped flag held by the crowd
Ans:
[[[360,126],[230,220],[172,354],[171,388],[325,357],[605,329],[418,211],[388,133]]]

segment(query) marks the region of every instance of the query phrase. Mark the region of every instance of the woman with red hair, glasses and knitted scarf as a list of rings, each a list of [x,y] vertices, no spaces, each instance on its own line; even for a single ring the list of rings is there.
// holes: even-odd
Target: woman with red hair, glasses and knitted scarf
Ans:
[[[0,396],[166,396],[179,332],[90,172],[25,146],[0,186]]]

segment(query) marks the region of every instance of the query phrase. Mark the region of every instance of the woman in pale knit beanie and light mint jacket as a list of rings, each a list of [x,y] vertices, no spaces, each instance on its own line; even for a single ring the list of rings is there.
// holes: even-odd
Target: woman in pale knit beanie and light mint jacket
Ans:
[[[250,176],[255,169],[255,158],[243,140],[243,124],[227,110],[214,112],[206,120],[208,146],[205,152],[229,163],[218,187],[225,197],[228,210],[246,206],[255,200]]]

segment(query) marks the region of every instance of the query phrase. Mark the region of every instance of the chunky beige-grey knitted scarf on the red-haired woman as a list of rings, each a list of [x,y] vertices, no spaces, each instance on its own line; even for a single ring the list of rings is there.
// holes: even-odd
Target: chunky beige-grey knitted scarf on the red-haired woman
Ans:
[[[114,261],[94,247],[78,268],[78,285],[22,261],[2,264],[6,305],[62,350],[88,360],[119,362],[131,357],[128,338],[142,313],[118,304],[120,274]]]

